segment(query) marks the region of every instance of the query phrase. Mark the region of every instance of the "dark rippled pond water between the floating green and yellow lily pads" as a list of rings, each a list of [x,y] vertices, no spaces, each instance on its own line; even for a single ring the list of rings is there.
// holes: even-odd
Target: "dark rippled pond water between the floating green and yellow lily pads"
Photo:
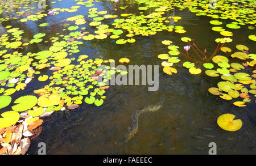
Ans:
[[[47,1],[46,10],[71,8],[77,6],[78,1],[51,2],[53,1]],[[28,6],[34,6],[36,11],[37,4],[31,3]],[[98,1],[93,4],[98,11],[108,11],[108,14],[118,15],[118,18],[122,18],[123,13],[139,15],[139,12],[144,12],[146,15],[152,12],[138,10],[139,4],[134,1],[120,0],[118,6],[128,6],[124,10],[120,8],[114,10],[114,2],[110,1]],[[60,12],[54,15],[56,24],[53,17],[48,15],[34,22],[22,23],[16,19],[10,19],[2,22],[1,26],[12,25],[13,28],[22,29],[23,41],[30,41],[40,32],[46,33],[44,40],[50,41],[51,37],[56,37],[56,33],[63,35],[69,33],[62,29],[65,23],[75,25],[74,22],[64,22],[71,16],[85,15],[86,22],[92,22],[92,18],[87,17],[89,8],[91,7],[81,5],[76,12]],[[5,18],[8,14],[18,16],[17,9],[12,10],[13,12],[9,13],[3,12],[1,18]],[[180,16],[181,19],[178,22],[169,24],[183,26],[187,32],[179,34],[162,31],[150,36],[137,35],[133,37],[136,42],[123,45],[115,44],[115,40],[109,37],[104,40],[81,39],[84,43],[79,45],[80,52],[69,56],[69,58],[78,58],[85,54],[90,59],[114,59],[116,64],[118,59],[125,57],[130,59],[129,65],[159,65],[158,91],[150,92],[148,86],[142,85],[110,86],[104,94],[106,96],[104,104],[100,107],[82,103],[78,109],[59,110],[51,116],[43,117],[42,132],[36,139],[32,139],[27,154],[38,154],[39,142],[46,143],[47,154],[208,154],[210,142],[217,144],[217,154],[255,154],[255,97],[251,98],[252,101],[247,103],[246,107],[237,107],[233,105],[233,100],[223,100],[208,92],[210,87],[217,87],[217,83],[221,81],[220,77],[209,77],[204,72],[192,75],[182,66],[182,63],[175,65],[176,74],[167,75],[161,66],[163,60],[158,58],[159,54],[169,51],[167,46],[162,44],[163,40],[171,40],[173,45],[180,48],[187,45],[180,40],[181,37],[190,37],[202,50],[207,48],[207,52],[213,52],[217,46],[215,39],[221,37],[219,32],[211,29],[214,25],[209,21],[213,19],[208,16],[197,16],[188,9],[180,11],[177,7],[166,11],[164,16]],[[18,17],[26,18],[24,15]],[[111,25],[113,19],[101,22]],[[226,19],[221,22],[228,24],[233,21]],[[39,24],[42,23],[49,23],[49,25],[40,27]],[[93,28],[88,23],[79,27],[86,27],[84,31],[90,32]],[[4,34],[5,31],[3,28],[1,33]],[[231,37],[233,41],[225,46],[233,51],[236,50],[236,45],[242,44],[249,48],[249,53],[256,52],[255,41],[248,39],[249,35],[256,33],[255,29],[248,29],[248,25],[241,25],[240,29],[231,31],[234,33]],[[47,50],[50,46],[51,42],[39,42],[22,51],[36,53]],[[217,55],[230,54],[220,50]],[[181,61],[187,60],[181,58]],[[240,59],[231,59],[231,61],[242,62]],[[40,72],[49,76],[53,73],[48,69]],[[14,101],[20,96],[35,95],[33,91],[44,87],[46,83],[48,84],[49,81],[38,82],[37,79],[32,79],[25,90],[17,91],[11,97]],[[124,142],[127,127],[132,122],[131,115],[136,110],[154,107],[161,102],[162,107],[155,112],[140,114],[138,132],[129,141]],[[10,106],[5,110],[1,109],[1,113],[10,109]],[[241,119],[243,122],[241,129],[234,132],[222,130],[217,125],[217,118],[224,113],[232,113],[236,118]]]

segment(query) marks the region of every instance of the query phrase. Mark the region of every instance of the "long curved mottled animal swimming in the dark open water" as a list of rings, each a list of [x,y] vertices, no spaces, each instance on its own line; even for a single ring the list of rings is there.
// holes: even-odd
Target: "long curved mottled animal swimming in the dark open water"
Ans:
[[[134,135],[138,132],[139,128],[139,115],[143,112],[154,112],[161,108],[163,103],[159,103],[156,105],[151,105],[150,107],[144,108],[142,110],[135,110],[135,112],[131,115],[131,126],[128,127],[128,132],[125,134],[125,142],[129,141]]]

